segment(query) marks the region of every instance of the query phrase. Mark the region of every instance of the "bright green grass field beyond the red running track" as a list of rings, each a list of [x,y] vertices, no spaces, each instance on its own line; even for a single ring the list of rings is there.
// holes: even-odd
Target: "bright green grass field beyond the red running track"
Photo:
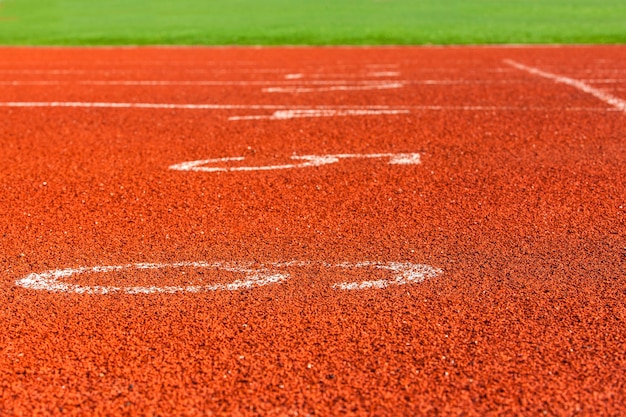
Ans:
[[[4,45],[624,42],[625,0],[0,0]]]

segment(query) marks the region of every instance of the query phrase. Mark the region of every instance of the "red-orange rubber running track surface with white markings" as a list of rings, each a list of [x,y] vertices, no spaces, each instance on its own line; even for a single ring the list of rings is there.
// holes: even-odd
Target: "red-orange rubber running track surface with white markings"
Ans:
[[[0,106],[0,415],[626,414],[625,114],[503,59],[626,97],[623,46],[0,49],[4,103],[407,111]],[[268,85],[84,83],[107,80]],[[311,80],[405,84],[263,91]],[[168,169],[294,153],[422,162]],[[81,266],[294,260],[313,264],[240,291],[16,285]],[[332,284],[380,271],[322,266],[361,261],[443,272],[345,291]],[[179,272],[66,281],[175,286]]]

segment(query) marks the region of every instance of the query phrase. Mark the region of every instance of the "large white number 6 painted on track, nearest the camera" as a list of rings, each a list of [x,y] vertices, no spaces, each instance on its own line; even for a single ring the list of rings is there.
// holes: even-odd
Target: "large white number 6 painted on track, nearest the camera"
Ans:
[[[31,273],[26,277],[15,281],[15,285],[37,291],[77,293],[77,294],[173,294],[173,293],[198,293],[209,291],[238,291],[262,287],[271,284],[279,284],[291,278],[291,274],[285,268],[303,268],[315,264],[321,264],[326,269],[371,268],[389,271],[390,279],[378,279],[372,281],[340,282],[332,285],[333,289],[339,290],[365,290],[382,289],[390,285],[417,284],[427,278],[434,278],[443,273],[441,269],[428,265],[413,264],[410,262],[343,262],[329,264],[325,262],[271,262],[266,264],[253,262],[177,262],[177,263],[137,263],[126,265],[107,265],[93,267],[79,267],[55,269],[40,273]],[[110,272],[124,272],[130,270],[157,270],[176,268],[206,268],[216,271],[242,274],[242,279],[236,279],[226,284],[204,284],[183,286],[107,286],[107,285],[80,285],[68,283],[70,277],[84,274],[105,274]]]

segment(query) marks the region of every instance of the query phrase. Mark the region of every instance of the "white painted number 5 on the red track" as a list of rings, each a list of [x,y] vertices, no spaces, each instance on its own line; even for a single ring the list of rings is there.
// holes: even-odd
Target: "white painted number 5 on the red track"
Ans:
[[[225,164],[229,162],[241,162],[245,158],[243,156],[202,159],[198,161],[182,162],[180,164],[171,165],[169,169],[174,171],[193,171],[193,172],[236,172],[236,171],[271,171],[277,169],[293,169],[318,167],[322,165],[334,164],[341,159],[380,159],[389,158],[390,165],[417,165],[421,163],[419,153],[375,153],[375,154],[337,154],[337,155],[293,155],[292,160],[302,161],[293,164],[282,165],[266,165],[266,166],[206,166],[208,164]]]

